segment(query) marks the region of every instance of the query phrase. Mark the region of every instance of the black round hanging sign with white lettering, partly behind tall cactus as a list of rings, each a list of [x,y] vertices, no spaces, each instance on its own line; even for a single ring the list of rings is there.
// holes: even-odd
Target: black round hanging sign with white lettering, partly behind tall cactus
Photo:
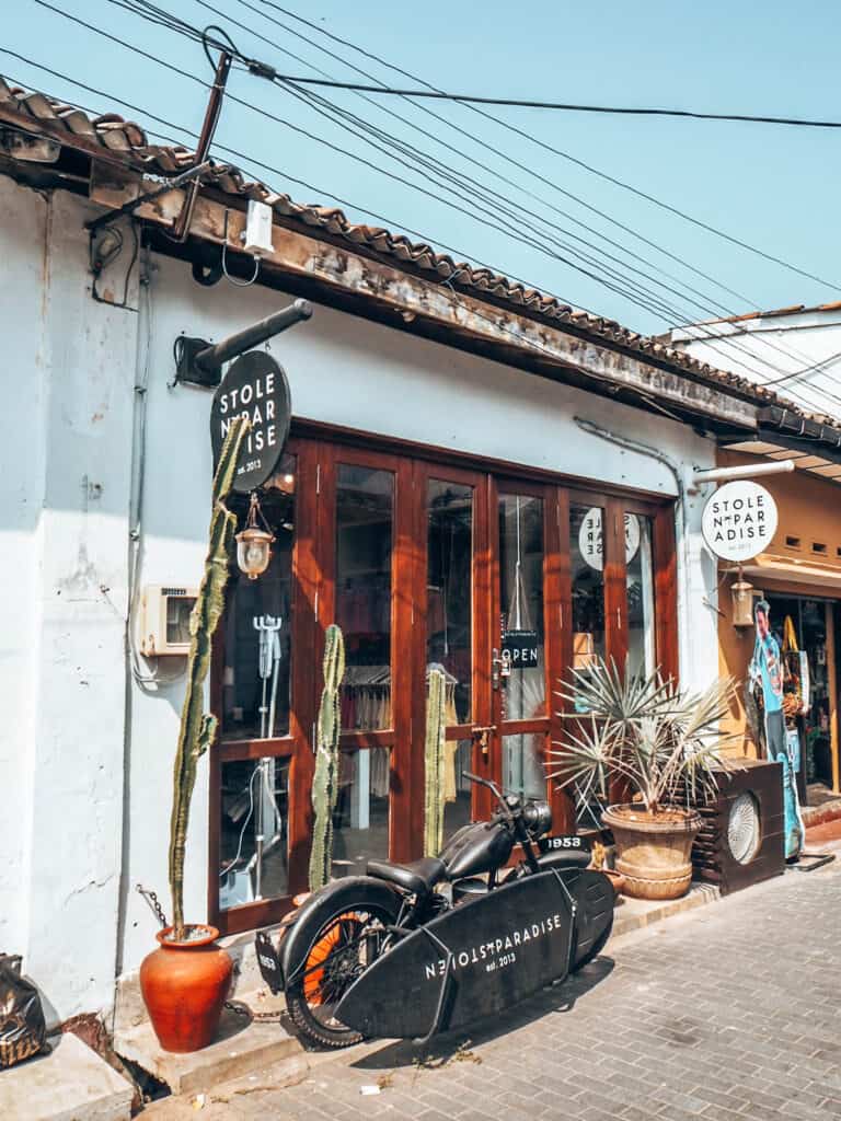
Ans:
[[[286,374],[265,351],[249,351],[232,362],[213,396],[211,444],[215,471],[231,421],[248,417],[233,489],[241,494],[261,487],[280,460],[289,436],[292,397]]]

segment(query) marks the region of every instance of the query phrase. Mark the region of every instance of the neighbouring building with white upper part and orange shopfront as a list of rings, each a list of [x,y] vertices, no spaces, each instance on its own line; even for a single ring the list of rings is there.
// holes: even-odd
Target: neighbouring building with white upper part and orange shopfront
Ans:
[[[703,339],[697,334],[703,328]],[[798,732],[802,766],[797,775],[803,805],[820,806],[839,785],[838,660],[841,624],[841,512],[839,482],[841,455],[829,437],[828,425],[841,415],[838,362],[841,353],[841,306],[797,305],[751,312],[696,327],[678,328],[673,345],[702,360],[717,361],[751,380],[767,401],[759,429],[750,441],[719,439],[720,466],[761,465],[793,461],[793,474],[761,479],[775,499],[778,525],[773,541],[742,566],[752,599],[770,608],[771,630],[786,648],[786,620],[792,638],[806,656],[808,703],[787,721]],[[773,400],[779,387],[802,408],[817,414],[811,420]],[[829,437],[829,438],[828,438]],[[722,593],[738,578],[736,565],[720,563]],[[754,647],[754,631],[732,626],[732,611],[723,596],[719,620],[722,673],[742,680]],[[755,754],[743,698],[733,705],[731,731],[741,750]]]

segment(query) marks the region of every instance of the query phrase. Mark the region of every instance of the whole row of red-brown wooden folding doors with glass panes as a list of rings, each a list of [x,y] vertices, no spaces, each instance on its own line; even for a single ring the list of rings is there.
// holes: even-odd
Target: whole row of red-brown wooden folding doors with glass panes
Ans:
[[[342,628],[333,873],[422,855],[427,674],[445,674],[445,831],[491,812],[464,770],[548,779],[560,682],[595,656],[674,668],[672,509],[546,478],[296,437],[261,500],[276,536],[233,576],[214,655],[209,911],[274,921],[307,887],[326,627]],[[671,573],[671,575],[669,575]],[[672,628],[672,633],[669,633]]]

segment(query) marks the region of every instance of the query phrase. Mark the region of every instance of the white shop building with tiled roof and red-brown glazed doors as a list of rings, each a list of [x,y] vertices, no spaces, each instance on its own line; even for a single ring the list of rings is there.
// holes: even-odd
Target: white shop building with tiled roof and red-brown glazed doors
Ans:
[[[165,232],[174,189],[119,219],[92,276],[85,223],[192,155],[2,81],[0,126],[15,402],[0,785],[19,807],[0,824],[0,944],[25,954],[55,1019],[110,1007],[151,944],[135,886],[166,897],[184,658],[161,650],[185,641],[212,473],[211,393],[174,379],[182,336],[219,340],[295,296],[315,306],[271,343],[294,419],[262,498],[271,566],[233,577],[214,651],[220,734],[193,802],[191,919],[249,930],[306,886],[333,622],[348,648],[335,874],[419,853],[429,664],[449,685],[447,830],[488,808],[461,784],[466,763],[546,791],[571,667],[601,654],[687,687],[715,675],[718,577],[692,480],[720,438],[757,435],[754,387],[225,168],[202,185],[184,244]],[[230,270],[253,270],[238,240],[249,197],[272,209],[274,249],[250,287],[209,285],[223,240]]]

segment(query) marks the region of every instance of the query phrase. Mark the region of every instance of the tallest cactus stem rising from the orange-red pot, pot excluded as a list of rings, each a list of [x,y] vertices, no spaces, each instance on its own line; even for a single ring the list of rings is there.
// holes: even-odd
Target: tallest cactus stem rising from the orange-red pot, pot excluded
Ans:
[[[190,617],[187,687],[178,730],[173,773],[173,814],[169,822],[169,888],[173,895],[173,936],[184,937],[184,850],[187,841],[190,803],[195,787],[196,765],[213,742],[216,717],[203,712],[204,679],[211,659],[211,640],[224,610],[228,567],[231,559],[237,517],[225,507],[233,485],[242,438],[248,420],[238,417],[228,429],[213,479],[213,510],[207,532],[207,555],[198,597]]]

